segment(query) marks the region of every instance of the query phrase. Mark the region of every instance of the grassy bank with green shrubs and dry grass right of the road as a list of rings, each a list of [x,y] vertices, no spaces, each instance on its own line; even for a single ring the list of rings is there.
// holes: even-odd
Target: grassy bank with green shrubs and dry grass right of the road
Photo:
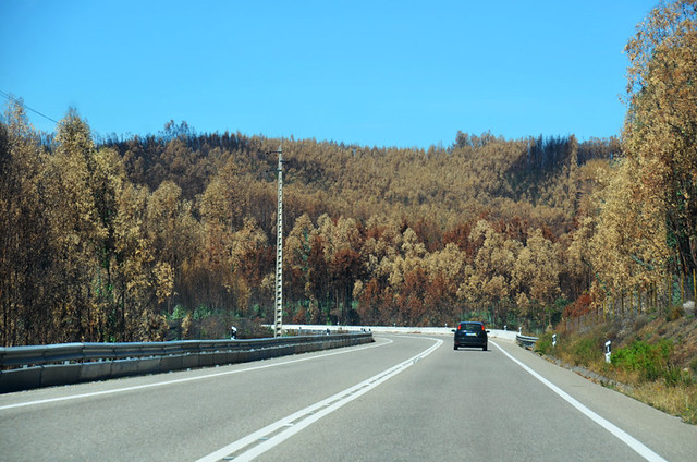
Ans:
[[[557,333],[557,345],[552,335]],[[611,363],[604,343],[612,342]],[[657,314],[616,319],[578,331],[541,335],[535,350],[579,374],[697,424],[697,318]]]

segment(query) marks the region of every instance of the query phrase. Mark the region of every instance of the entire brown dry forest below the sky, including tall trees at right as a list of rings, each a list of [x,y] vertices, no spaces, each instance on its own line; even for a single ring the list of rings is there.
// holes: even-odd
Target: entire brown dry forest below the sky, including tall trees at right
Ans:
[[[695,17],[677,1],[639,25],[621,138],[458,132],[448,147],[405,149],[174,121],[119,138],[72,109],[49,136],[10,102],[0,343],[271,321],[279,145],[284,319],[546,326],[625,291],[658,293],[697,266]]]

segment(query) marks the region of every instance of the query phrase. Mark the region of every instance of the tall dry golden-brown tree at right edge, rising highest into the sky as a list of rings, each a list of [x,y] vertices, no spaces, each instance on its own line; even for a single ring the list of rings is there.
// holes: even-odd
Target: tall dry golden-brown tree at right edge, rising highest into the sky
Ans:
[[[667,228],[663,242],[646,232],[638,238],[668,245],[675,269],[689,272],[697,267],[697,1],[661,2],[626,52],[627,174],[644,204],[645,231],[663,226],[656,220]]]

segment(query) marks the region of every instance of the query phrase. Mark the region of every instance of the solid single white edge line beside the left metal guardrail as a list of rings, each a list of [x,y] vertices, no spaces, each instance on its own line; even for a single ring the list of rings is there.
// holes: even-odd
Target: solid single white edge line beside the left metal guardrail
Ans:
[[[338,354],[352,353],[352,352],[356,352],[356,351],[360,351],[360,350],[366,350],[366,349],[369,349],[369,348],[383,346],[383,345],[387,345],[387,344],[393,342],[393,340],[384,339],[384,338],[382,338],[381,340],[382,341],[376,342],[376,343],[370,344],[370,345],[365,345],[365,346],[359,346],[359,348],[352,348],[350,350],[343,350],[342,349],[341,351],[332,351],[330,353],[316,354],[316,355],[313,355],[313,356],[306,356],[306,357],[301,357],[301,358],[297,358],[297,360],[284,361],[284,362],[281,362],[281,363],[262,364],[260,366],[245,367],[243,369],[228,370],[228,372],[224,372],[224,373],[206,374],[206,375],[203,375],[203,376],[180,378],[180,379],[166,380],[166,381],[158,381],[158,382],[155,382],[155,384],[145,384],[145,385],[136,385],[136,386],[133,386],[133,387],[115,388],[113,390],[95,391],[95,392],[91,392],[91,393],[70,394],[70,396],[66,396],[66,397],[48,398],[48,399],[45,399],[45,400],[25,401],[25,402],[20,402],[20,403],[14,403],[14,404],[5,404],[5,405],[0,405],[0,411],[5,411],[5,410],[9,410],[9,409],[15,409],[15,408],[26,408],[26,406],[38,405],[38,404],[47,404],[47,403],[52,403],[52,402],[58,402],[58,401],[69,401],[69,400],[77,400],[77,399],[82,399],[82,398],[100,397],[100,396],[103,396],[103,394],[122,393],[122,392],[125,392],[125,391],[143,390],[143,389],[146,389],[146,388],[164,387],[167,385],[184,384],[184,382],[187,382],[187,381],[203,380],[203,379],[207,379],[207,378],[221,377],[221,376],[232,375],[232,374],[247,373],[247,372],[250,372],[250,370],[259,370],[259,369],[266,369],[266,368],[269,368],[269,367],[283,366],[283,365],[286,365],[286,364],[295,364],[295,363],[302,363],[302,362],[305,362],[305,361],[318,360],[320,357],[327,357],[327,356],[334,356],[334,355],[338,355]],[[180,372],[183,372],[183,370],[180,370]]]

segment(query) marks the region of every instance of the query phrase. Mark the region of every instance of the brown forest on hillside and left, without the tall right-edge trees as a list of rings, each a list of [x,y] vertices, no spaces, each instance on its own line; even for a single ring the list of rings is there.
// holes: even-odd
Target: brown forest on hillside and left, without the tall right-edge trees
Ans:
[[[175,311],[200,307],[269,321],[267,153],[281,143],[286,319],[539,323],[589,289],[564,268],[565,243],[595,171],[621,149],[463,133],[447,149],[368,148],[195,134],[185,122],[95,141],[75,111],[47,143],[21,105],[5,121],[3,344],[160,339]]]

